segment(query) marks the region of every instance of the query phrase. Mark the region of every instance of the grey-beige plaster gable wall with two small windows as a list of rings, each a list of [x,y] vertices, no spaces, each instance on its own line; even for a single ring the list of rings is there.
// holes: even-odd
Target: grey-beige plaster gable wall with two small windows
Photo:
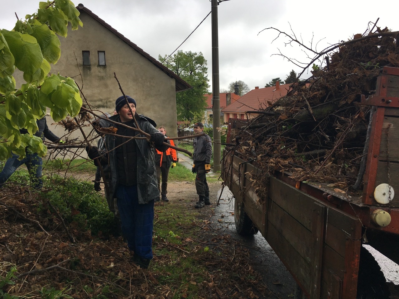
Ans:
[[[51,71],[75,79],[89,103],[109,113],[122,95],[115,72],[124,93],[136,100],[138,114],[166,126],[168,133],[176,136],[175,80],[85,12],[79,17],[83,28],[60,37],[61,59]],[[82,51],[90,51],[90,66],[83,65]],[[97,51],[105,51],[105,66],[98,65]]]

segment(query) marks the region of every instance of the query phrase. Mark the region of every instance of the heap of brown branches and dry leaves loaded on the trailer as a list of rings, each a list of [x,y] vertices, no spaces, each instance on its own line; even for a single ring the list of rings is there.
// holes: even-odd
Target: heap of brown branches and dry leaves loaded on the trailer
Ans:
[[[324,67],[313,65],[312,77],[259,109],[232,149],[256,160],[264,172],[284,171],[298,181],[348,191],[362,176],[359,164],[365,156],[371,107],[361,105],[361,95],[375,92],[380,67],[399,67],[397,36],[377,28],[337,45],[324,57]]]

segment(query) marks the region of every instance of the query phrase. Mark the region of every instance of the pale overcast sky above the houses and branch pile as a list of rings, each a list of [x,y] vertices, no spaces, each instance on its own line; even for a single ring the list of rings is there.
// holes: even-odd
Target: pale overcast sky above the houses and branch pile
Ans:
[[[79,1],[73,3],[76,6],[83,3],[156,59],[158,54],[171,54],[211,11],[209,0]],[[0,0],[0,29],[11,30],[16,22],[15,13],[24,18],[38,6],[36,0]],[[356,33],[364,33],[372,27],[369,22],[378,18],[378,26],[398,31],[397,8],[397,0],[223,1],[217,8],[220,89],[227,89],[236,80],[244,81],[250,89],[262,88],[273,78],[284,80],[292,69],[296,73],[302,71],[283,57],[273,55],[279,51],[303,63],[310,61],[304,47],[285,46],[286,37],[277,38],[277,31],[262,31],[265,28],[274,27],[290,35],[294,32],[305,45],[313,41],[314,49],[321,51]],[[203,54],[212,85],[211,15],[179,50]],[[310,73],[302,75],[303,79],[307,77]]]

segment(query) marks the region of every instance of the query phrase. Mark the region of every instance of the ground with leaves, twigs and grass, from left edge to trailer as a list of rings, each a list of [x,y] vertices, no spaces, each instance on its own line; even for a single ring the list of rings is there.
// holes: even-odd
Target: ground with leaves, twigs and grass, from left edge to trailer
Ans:
[[[216,203],[221,183],[209,186]],[[0,189],[0,291],[10,298],[276,298],[249,250],[210,224],[212,206],[194,209],[194,185],[170,182],[168,189],[170,202],[155,205],[149,269],[130,261],[122,237],[64,222],[46,190]]]

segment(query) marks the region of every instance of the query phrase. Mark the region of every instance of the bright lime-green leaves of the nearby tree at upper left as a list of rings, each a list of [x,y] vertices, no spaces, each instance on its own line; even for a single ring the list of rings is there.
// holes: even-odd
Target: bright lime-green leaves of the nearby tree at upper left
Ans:
[[[51,117],[60,121],[79,113],[82,99],[71,78],[50,75],[50,63],[61,55],[56,34],[67,36],[68,22],[72,30],[83,26],[79,11],[70,0],[40,2],[37,13],[18,20],[12,31],[0,30],[0,160],[11,151],[25,156],[25,149],[44,156],[47,148],[33,134],[36,120],[50,108]],[[16,87],[12,76],[19,69],[26,83]],[[21,134],[26,128],[28,134]]]

